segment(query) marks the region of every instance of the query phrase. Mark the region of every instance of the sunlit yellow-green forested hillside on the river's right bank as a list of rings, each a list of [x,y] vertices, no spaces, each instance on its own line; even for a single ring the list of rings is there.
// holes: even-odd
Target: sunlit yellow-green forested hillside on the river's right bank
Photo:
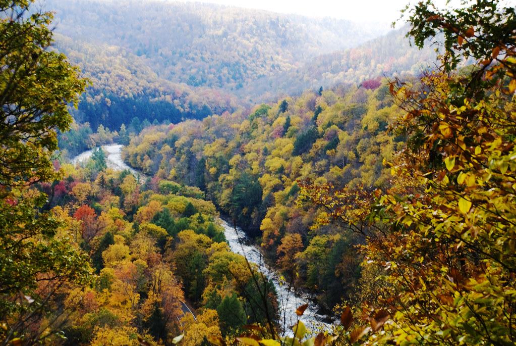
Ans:
[[[332,228],[310,231],[316,210],[298,208],[299,182],[385,186],[382,160],[404,145],[386,132],[398,112],[386,86],[308,91],[250,112],[148,127],[123,158],[153,175],[147,188],[167,181],[201,188],[261,238],[269,260],[325,292],[321,302],[331,308],[358,283],[350,244],[361,240]]]

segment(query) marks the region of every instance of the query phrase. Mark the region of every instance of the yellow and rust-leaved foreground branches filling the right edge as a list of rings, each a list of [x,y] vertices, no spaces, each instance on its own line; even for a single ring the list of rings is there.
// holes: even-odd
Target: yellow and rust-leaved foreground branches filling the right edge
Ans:
[[[464,3],[438,11],[427,1],[411,12],[415,43],[442,33],[444,51],[420,89],[390,85],[406,111],[393,130],[407,138],[385,163],[390,187],[302,186],[325,207],[318,222],[362,232],[366,262],[386,271],[372,303],[389,320],[380,327],[364,316],[370,325],[355,328],[353,341],[373,331],[364,342],[516,342],[516,15],[498,1]],[[464,59],[476,64],[457,71]]]

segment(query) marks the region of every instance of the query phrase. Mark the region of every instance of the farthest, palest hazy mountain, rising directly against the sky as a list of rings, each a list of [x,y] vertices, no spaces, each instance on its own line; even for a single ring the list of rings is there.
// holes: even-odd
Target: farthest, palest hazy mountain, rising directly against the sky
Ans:
[[[175,83],[236,90],[378,37],[384,28],[262,10],[166,1],[47,0],[56,32],[143,58]]]

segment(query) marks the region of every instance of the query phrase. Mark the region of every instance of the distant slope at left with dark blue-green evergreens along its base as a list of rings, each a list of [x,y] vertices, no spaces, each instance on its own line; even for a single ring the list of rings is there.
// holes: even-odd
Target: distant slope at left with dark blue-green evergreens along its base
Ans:
[[[140,121],[177,123],[232,112],[238,100],[227,93],[206,87],[190,87],[159,78],[141,59],[120,47],[76,42],[57,34],[54,49],[77,65],[91,86],[72,109],[80,123],[96,130],[104,125],[118,130],[134,117]]]

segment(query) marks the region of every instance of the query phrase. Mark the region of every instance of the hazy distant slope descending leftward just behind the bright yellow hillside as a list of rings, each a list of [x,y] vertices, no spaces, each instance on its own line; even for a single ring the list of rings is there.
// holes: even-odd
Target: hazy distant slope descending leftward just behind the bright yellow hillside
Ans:
[[[308,64],[278,74],[262,77],[245,86],[246,95],[260,95],[254,101],[269,101],[278,95],[296,95],[300,90],[331,88],[338,84],[357,84],[380,81],[383,77],[418,75],[433,68],[437,53],[427,45],[419,50],[411,46],[406,29],[330,54],[322,54]]]

